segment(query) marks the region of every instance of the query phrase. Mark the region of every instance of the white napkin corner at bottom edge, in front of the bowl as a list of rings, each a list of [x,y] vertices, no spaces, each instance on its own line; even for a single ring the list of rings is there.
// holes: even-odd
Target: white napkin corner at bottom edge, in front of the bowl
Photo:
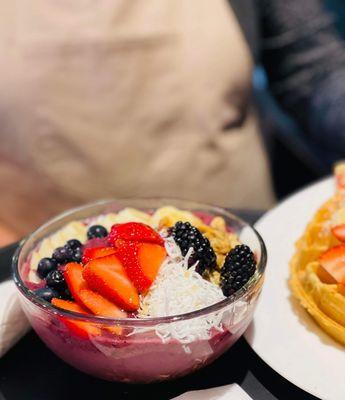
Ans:
[[[205,390],[186,392],[172,400],[253,400],[236,383]]]

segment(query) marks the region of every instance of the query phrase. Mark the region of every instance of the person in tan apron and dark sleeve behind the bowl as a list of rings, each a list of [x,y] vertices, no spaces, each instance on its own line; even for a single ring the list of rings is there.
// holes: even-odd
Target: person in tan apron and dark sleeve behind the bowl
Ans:
[[[259,59],[306,135],[345,148],[345,54],[319,0],[4,0],[0,44],[0,245],[106,197],[270,207]]]

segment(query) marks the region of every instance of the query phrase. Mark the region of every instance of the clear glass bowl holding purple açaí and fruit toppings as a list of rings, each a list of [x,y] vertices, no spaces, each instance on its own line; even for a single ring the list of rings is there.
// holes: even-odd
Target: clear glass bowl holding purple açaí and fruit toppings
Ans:
[[[111,319],[59,310],[25,286],[28,256],[42,239],[66,223],[117,212],[124,207],[153,212],[164,205],[223,217],[229,229],[256,254],[257,272],[252,279],[234,295],[212,306],[187,314],[147,319]],[[265,266],[266,249],[259,234],[225,209],[176,199],[124,199],[86,205],[48,221],[20,244],[13,258],[13,275],[22,307],[33,329],[60,358],[85,373],[106,380],[148,383],[189,374],[228,350],[253,317]],[[90,333],[87,337],[75,335],[66,320],[86,322],[98,331],[101,327],[103,333]],[[110,332],[109,328],[115,326],[121,329],[121,335]],[[169,335],[169,332],[181,330],[187,330],[182,341]]]

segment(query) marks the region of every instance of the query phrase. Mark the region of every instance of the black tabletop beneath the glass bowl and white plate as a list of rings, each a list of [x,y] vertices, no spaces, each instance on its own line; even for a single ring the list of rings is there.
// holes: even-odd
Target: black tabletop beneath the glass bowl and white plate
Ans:
[[[254,223],[260,212],[238,212]],[[10,276],[15,245],[0,249],[0,281]],[[0,298],[1,301],[1,298]],[[0,400],[171,399],[189,390],[238,383],[254,400],[312,400],[265,364],[241,338],[212,365],[167,383],[126,385],[87,376],[57,358],[29,332],[0,360]]]

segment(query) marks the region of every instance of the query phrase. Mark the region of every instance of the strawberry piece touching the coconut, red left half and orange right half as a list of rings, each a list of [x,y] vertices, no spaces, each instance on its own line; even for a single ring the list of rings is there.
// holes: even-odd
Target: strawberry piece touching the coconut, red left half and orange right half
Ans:
[[[155,280],[166,257],[165,248],[153,243],[121,243],[116,255],[140,293],[145,293]]]

